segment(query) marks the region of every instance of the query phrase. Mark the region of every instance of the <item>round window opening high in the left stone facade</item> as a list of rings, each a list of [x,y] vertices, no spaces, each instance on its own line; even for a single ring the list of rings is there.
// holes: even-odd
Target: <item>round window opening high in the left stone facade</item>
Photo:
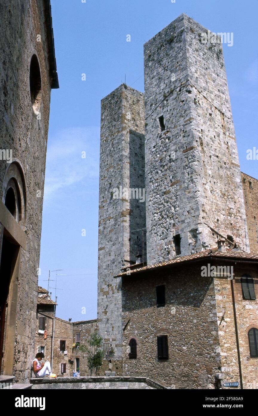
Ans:
[[[29,67],[29,91],[35,113],[39,112],[42,98],[41,75],[37,55],[32,55]]]

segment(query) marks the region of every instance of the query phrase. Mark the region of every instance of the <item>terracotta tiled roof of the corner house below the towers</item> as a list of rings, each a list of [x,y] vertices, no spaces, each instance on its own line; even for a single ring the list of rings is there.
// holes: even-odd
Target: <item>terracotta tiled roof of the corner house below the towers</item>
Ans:
[[[135,270],[130,270],[130,275],[140,272],[145,272],[147,270],[153,270],[160,267],[165,267],[169,265],[175,265],[175,264],[182,264],[185,262],[191,262],[193,260],[201,260],[204,258],[225,258],[225,259],[238,259],[238,260],[253,260],[254,262],[258,261],[258,254],[252,254],[252,253],[246,253],[242,250],[236,250],[236,249],[227,249],[226,252],[220,251],[217,248],[209,248],[203,251],[200,251],[199,253],[194,253],[187,256],[180,256],[177,258],[174,258],[172,260],[168,260],[161,263],[156,263],[154,265],[145,266],[145,267],[139,267]],[[121,276],[127,276],[127,272],[122,272],[117,275],[117,277]]]

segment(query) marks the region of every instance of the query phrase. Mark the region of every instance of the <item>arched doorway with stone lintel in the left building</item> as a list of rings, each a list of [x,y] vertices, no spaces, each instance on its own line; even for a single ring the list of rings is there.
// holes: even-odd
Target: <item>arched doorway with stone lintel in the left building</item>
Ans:
[[[12,374],[20,248],[26,249],[26,188],[22,168],[7,168],[0,201],[0,374]]]

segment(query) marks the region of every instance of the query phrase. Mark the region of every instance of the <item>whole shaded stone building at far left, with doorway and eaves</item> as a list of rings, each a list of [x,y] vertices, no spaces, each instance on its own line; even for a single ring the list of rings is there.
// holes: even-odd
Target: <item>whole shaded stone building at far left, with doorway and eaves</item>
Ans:
[[[58,88],[49,0],[0,4],[0,374],[33,358],[45,159]]]

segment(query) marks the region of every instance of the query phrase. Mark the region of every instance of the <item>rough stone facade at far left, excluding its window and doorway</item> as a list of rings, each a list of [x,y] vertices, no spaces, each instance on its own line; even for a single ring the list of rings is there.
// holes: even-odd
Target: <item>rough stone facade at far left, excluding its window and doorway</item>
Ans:
[[[16,327],[13,374],[17,381],[28,380],[34,353],[37,268],[51,91],[44,6],[43,0],[9,0],[0,4],[0,147],[12,150],[12,160],[24,176],[27,201],[26,218],[21,224],[27,240],[25,248],[20,248],[20,273],[15,283],[17,319],[15,312],[12,319],[12,328]],[[37,41],[37,35],[41,35],[40,41]],[[29,67],[33,54],[38,57],[42,81],[42,98],[37,114],[32,107],[29,89]],[[3,183],[9,166],[7,161],[0,161],[0,198],[3,202]],[[1,225],[0,241],[2,233]],[[5,345],[5,353],[12,347]],[[7,371],[10,370],[8,366]]]

